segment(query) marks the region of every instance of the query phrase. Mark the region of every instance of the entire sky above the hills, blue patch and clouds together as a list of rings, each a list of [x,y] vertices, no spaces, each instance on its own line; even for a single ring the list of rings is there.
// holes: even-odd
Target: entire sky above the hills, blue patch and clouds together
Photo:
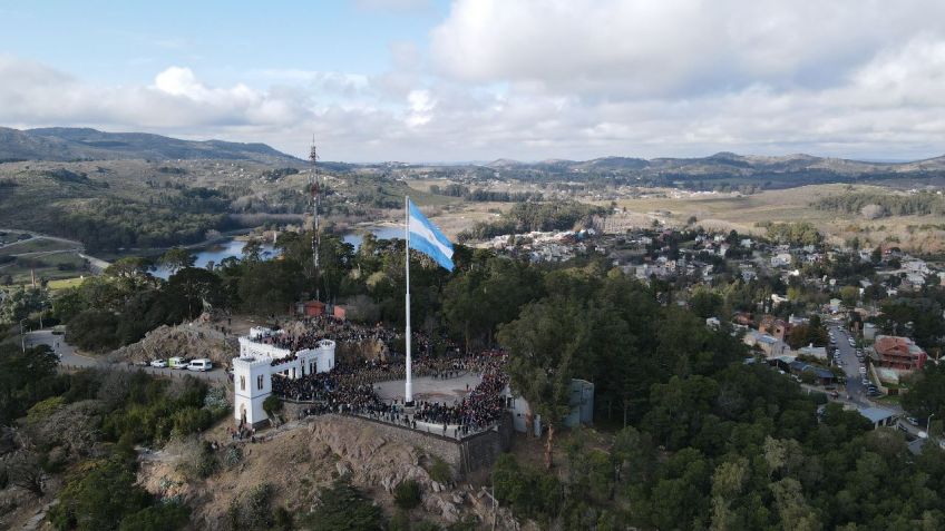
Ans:
[[[0,0],[0,125],[325,159],[945,154],[941,0]]]

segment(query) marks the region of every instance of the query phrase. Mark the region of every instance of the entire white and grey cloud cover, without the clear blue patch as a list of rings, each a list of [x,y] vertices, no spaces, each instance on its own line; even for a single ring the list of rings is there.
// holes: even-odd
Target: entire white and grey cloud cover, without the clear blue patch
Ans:
[[[943,2],[457,0],[429,47],[393,42],[390,63],[228,86],[178,65],[119,87],[0,56],[0,124],[302,156],[315,134],[352,161],[945,153]]]

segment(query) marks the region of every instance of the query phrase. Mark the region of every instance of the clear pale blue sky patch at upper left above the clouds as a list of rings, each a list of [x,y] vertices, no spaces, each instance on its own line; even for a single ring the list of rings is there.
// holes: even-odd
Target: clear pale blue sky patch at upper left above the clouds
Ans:
[[[263,6],[272,6],[264,8]],[[101,0],[2,2],[0,49],[104,82],[187,65],[214,83],[252,70],[380,73],[390,43],[426,46],[445,4]]]

